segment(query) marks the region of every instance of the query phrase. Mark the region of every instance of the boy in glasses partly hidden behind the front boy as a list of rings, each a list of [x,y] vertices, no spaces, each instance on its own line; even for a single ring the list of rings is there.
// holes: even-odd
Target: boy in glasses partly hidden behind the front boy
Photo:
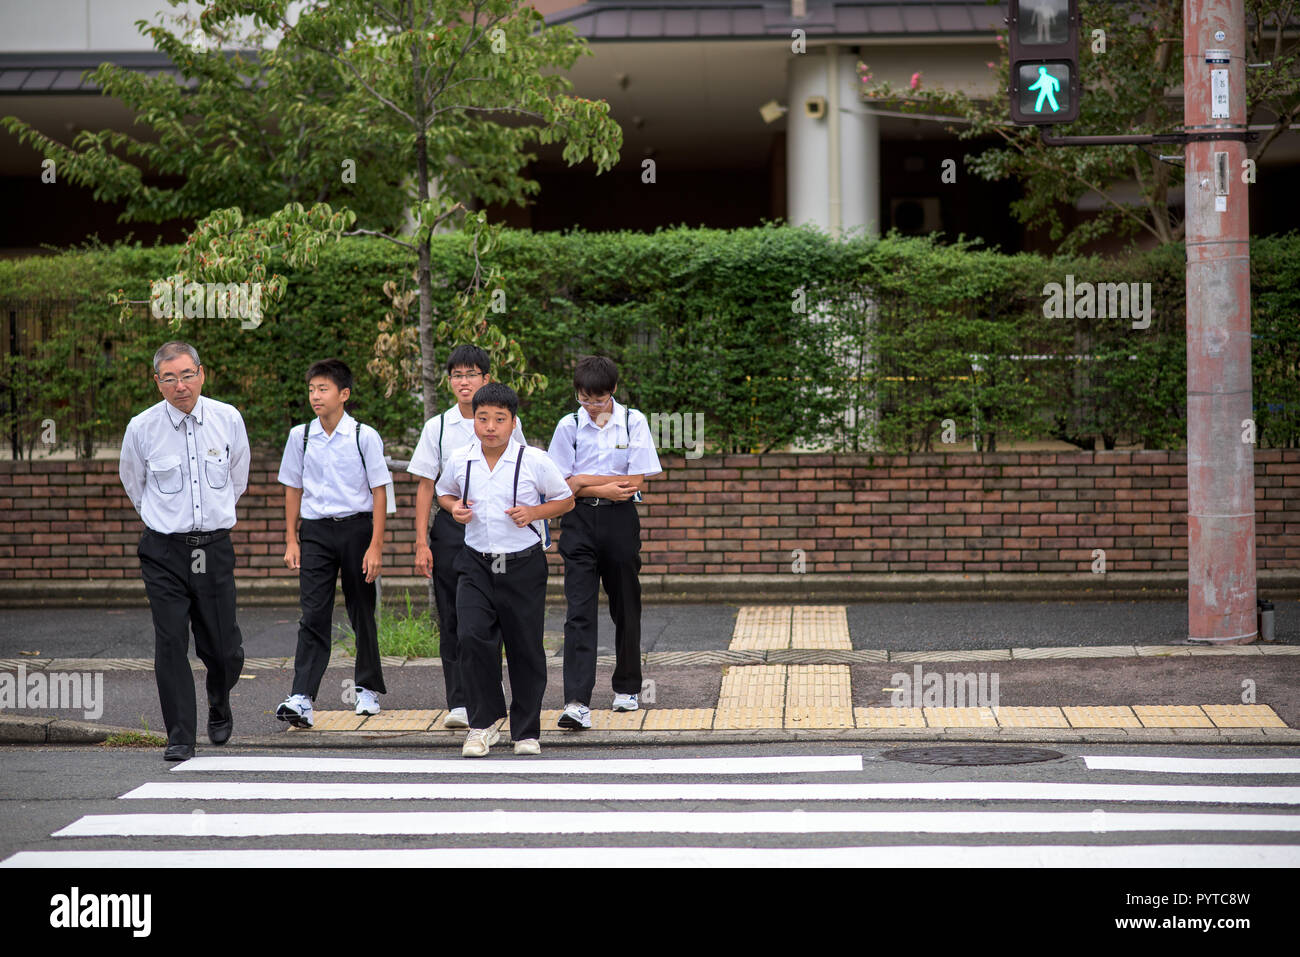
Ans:
[[[424,577],[433,577],[433,598],[438,607],[438,655],[442,658],[442,680],[447,689],[446,728],[468,728],[469,700],[460,676],[460,636],[456,616],[455,562],[465,546],[465,527],[439,508],[429,527],[434,486],[452,452],[474,441],[474,393],[491,381],[491,359],[478,346],[456,346],[447,358],[447,382],[456,400],[442,415],[434,416],[420,430],[420,441],[411,455],[407,471],[420,477],[415,494],[415,567]],[[524,445],[519,419],[511,438]],[[494,702],[506,710],[506,697]]]

